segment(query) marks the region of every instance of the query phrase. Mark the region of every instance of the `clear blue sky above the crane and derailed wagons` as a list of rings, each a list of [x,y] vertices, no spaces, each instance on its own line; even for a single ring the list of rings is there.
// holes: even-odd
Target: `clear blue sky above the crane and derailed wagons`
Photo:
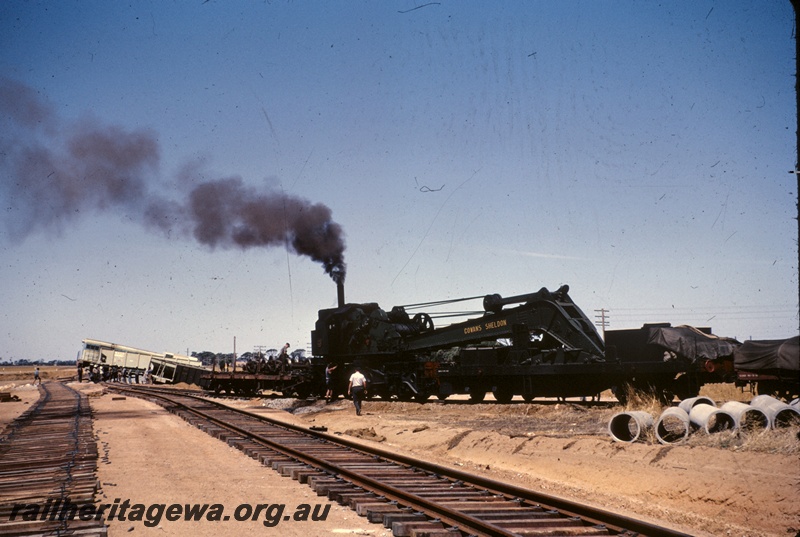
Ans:
[[[332,280],[285,240],[198,241],[207,183],[266,220],[287,214],[262,199],[327,207],[348,301],[566,283],[610,328],[795,335],[793,22],[788,1],[3,2],[0,359],[305,347]],[[143,151],[120,196],[66,156],[76,133]]]

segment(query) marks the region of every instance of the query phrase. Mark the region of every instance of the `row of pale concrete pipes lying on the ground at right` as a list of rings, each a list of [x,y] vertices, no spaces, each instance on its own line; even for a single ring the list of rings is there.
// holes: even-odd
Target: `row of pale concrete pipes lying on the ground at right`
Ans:
[[[654,428],[662,444],[685,441],[689,434],[702,429],[708,434],[729,430],[767,430],[800,423],[800,402],[787,405],[774,397],[759,395],[751,403],[730,401],[717,408],[708,397],[684,399],[654,420],[649,412],[629,411],[615,414],[608,432],[617,442],[633,443],[643,440],[645,432]]]

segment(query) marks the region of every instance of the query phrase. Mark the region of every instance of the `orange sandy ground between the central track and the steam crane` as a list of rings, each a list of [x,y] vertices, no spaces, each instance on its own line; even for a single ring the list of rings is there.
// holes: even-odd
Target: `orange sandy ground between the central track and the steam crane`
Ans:
[[[259,412],[281,400],[240,401]],[[770,453],[758,442],[740,447],[626,444],[607,433],[611,403],[549,401],[471,405],[464,401],[365,403],[298,408],[287,420],[325,426],[329,433],[378,442],[554,496],[672,527],[698,536],[782,536],[800,532],[797,430],[770,433]],[[711,442],[713,443],[713,442]],[[731,439],[731,445],[733,445]],[[724,444],[724,442],[723,442]]]

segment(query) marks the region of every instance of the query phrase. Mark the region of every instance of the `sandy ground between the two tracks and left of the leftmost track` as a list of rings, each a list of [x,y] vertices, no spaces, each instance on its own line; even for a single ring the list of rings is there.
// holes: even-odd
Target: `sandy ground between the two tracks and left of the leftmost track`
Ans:
[[[154,403],[103,394],[102,389],[88,383],[81,384],[80,389],[91,394],[100,452],[101,502],[121,505],[130,500],[132,506],[142,504],[153,509],[149,518],[145,511],[140,521],[107,521],[110,537],[391,535],[382,526],[370,524],[350,509],[318,497],[307,486],[281,477]],[[0,386],[0,391],[11,391],[22,399],[0,404],[2,425],[24,412],[38,398],[38,389],[29,384],[11,388]],[[160,508],[151,507],[187,503],[209,504],[207,513],[211,506],[219,504],[224,508],[223,516],[229,519],[169,521],[165,509],[159,519]],[[249,520],[237,521],[235,513],[244,504],[267,507],[256,520],[252,520],[251,515]],[[310,506],[307,519],[295,520],[297,513],[303,514],[298,509],[303,505]],[[242,508],[240,515],[244,515],[246,509]],[[315,509],[317,520],[312,517]],[[323,517],[324,520],[320,520]],[[275,525],[271,525],[272,522]]]

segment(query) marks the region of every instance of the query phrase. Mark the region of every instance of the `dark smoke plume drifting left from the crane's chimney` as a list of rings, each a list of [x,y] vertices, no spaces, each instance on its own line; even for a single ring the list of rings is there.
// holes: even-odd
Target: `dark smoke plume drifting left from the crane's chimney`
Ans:
[[[155,133],[90,120],[65,125],[33,89],[6,78],[0,119],[3,220],[14,240],[60,233],[84,213],[122,210],[211,248],[285,246],[344,280],[344,232],[321,203],[258,190],[240,177],[198,182],[201,174],[189,167],[170,189],[159,174]]]

